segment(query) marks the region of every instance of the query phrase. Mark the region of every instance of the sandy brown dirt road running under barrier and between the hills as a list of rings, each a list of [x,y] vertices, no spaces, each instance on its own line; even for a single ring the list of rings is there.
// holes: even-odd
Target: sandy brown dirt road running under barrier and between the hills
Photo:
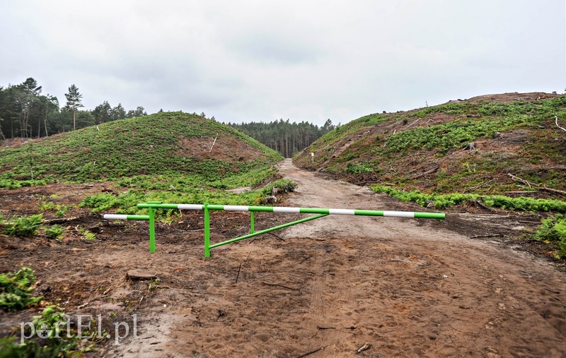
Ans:
[[[289,206],[407,210],[289,160],[282,172],[299,183]],[[357,356],[565,357],[565,274],[457,234],[449,220],[331,215],[208,260],[202,233],[158,243],[149,258],[145,246],[101,253],[100,264],[163,278],[138,311],[139,338],[110,354],[353,357],[368,342]]]

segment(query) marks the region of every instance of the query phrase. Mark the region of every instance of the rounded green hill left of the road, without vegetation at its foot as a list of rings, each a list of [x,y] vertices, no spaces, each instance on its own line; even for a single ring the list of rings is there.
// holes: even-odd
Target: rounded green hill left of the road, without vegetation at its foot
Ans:
[[[212,148],[216,152],[209,154],[209,141],[216,136]],[[241,143],[245,153],[238,153],[233,143]],[[35,143],[34,181],[24,160],[29,155],[26,148],[0,150],[0,165],[6,169],[0,174],[0,186],[17,188],[55,180],[119,180],[130,186],[143,178],[158,181],[166,189],[175,187],[178,180],[225,189],[257,184],[281,158],[229,126],[182,112],[112,121]]]

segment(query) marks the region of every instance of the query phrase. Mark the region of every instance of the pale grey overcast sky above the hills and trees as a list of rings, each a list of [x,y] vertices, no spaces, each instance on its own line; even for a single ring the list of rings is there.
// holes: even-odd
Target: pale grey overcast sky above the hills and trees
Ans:
[[[566,88],[565,0],[0,0],[0,85],[219,121],[342,124]]]

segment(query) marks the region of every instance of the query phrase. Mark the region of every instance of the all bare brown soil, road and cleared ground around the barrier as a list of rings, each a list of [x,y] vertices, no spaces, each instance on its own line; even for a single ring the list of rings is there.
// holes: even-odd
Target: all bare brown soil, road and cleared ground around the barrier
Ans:
[[[299,184],[283,205],[423,211],[290,160],[281,170]],[[37,212],[35,195],[62,185],[0,191],[1,213]],[[81,188],[58,200],[108,190]],[[477,208],[454,210],[444,222],[330,215],[204,259],[200,212],[158,225],[150,254],[146,222],[73,210],[79,218],[62,241],[0,236],[0,270],[32,267],[47,300],[74,314],[103,314],[109,330],[136,314],[137,338],[108,340],[95,356],[350,357],[365,343],[359,357],[566,356],[566,274],[530,252],[544,249],[518,239],[536,225],[532,215]],[[298,217],[258,213],[256,229]],[[212,241],[248,225],[246,213],[214,212]],[[81,239],[75,226],[98,227],[97,239]],[[156,273],[157,287],[129,280],[134,269]],[[0,313],[1,334],[37,311]]]

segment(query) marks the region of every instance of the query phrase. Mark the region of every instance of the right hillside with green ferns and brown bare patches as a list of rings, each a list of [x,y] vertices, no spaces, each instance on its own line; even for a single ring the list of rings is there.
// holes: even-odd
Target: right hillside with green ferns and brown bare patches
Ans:
[[[294,163],[355,183],[378,183],[374,191],[427,208],[480,201],[506,210],[566,213],[566,201],[536,190],[566,190],[566,137],[554,123],[554,116],[566,118],[566,96],[516,94],[522,99],[509,102],[513,96],[371,114],[325,134]],[[475,150],[463,150],[470,142]],[[524,196],[513,197],[518,195]]]

